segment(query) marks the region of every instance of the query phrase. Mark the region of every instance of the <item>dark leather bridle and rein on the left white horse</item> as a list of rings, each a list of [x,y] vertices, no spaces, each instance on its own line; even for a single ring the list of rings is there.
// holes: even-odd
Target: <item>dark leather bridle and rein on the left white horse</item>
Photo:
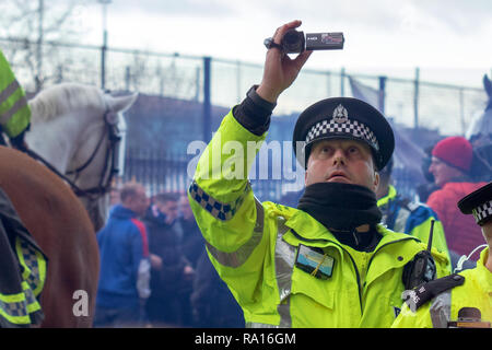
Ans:
[[[106,110],[104,113],[104,124],[106,128],[106,132],[103,132],[101,136],[99,141],[97,142],[96,148],[92,152],[91,156],[78,168],[73,171],[68,171],[66,174],[61,174],[58,170],[56,170],[49,162],[47,162],[45,159],[43,159],[39,154],[32,151],[31,149],[26,150],[26,153],[30,154],[32,158],[34,158],[37,161],[40,161],[43,164],[45,164],[50,171],[52,171],[55,174],[57,174],[59,177],[61,177],[65,182],[67,182],[70,187],[72,188],[73,192],[78,197],[86,197],[90,200],[96,200],[99,197],[104,196],[106,192],[110,190],[113,177],[115,174],[119,172],[118,164],[117,164],[117,155],[119,152],[119,145],[121,141],[121,132],[118,128],[117,122],[117,115],[114,113],[108,106],[106,106]],[[106,148],[106,155],[105,155],[105,164],[106,166],[103,167],[103,171],[101,173],[99,184],[97,186],[82,189],[79,186],[75,185],[77,179],[79,178],[79,175],[94,161],[94,158],[96,156],[98,150],[101,149],[101,145],[104,142],[104,137],[107,135],[109,145]],[[108,162],[110,161],[110,167],[108,170]],[[74,175],[73,179],[70,179],[68,175]]]

